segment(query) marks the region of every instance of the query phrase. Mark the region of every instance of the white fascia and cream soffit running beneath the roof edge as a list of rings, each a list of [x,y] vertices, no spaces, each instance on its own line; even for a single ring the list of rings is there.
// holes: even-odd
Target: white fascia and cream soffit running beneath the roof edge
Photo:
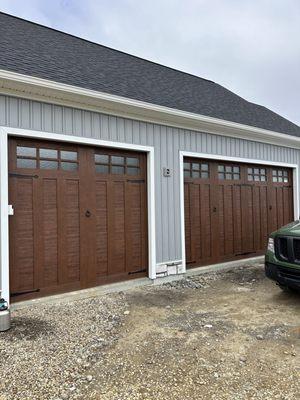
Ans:
[[[300,137],[5,70],[0,70],[0,93],[176,128],[300,148]]]

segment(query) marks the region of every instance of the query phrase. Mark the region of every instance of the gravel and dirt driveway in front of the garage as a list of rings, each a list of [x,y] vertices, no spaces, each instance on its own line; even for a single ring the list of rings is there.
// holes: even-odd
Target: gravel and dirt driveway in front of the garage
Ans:
[[[300,296],[263,266],[14,312],[0,399],[300,399]]]

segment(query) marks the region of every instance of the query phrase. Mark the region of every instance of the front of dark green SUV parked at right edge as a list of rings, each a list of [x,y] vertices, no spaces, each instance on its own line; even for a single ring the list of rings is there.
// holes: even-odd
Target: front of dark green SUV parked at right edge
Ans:
[[[265,271],[281,289],[300,291],[300,221],[285,225],[270,235]]]

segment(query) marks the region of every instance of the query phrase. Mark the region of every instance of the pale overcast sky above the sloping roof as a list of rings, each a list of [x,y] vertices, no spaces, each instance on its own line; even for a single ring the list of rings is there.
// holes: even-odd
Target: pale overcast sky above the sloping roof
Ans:
[[[0,0],[0,9],[213,80],[300,125],[299,0]]]

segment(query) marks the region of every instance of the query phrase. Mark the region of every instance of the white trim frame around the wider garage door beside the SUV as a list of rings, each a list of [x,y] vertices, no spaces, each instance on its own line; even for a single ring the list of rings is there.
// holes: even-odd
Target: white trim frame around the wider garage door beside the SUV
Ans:
[[[243,157],[229,157],[222,156],[220,154],[207,154],[207,153],[195,153],[191,151],[179,151],[179,173],[180,173],[180,235],[181,235],[181,254],[182,254],[182,267],[183,273],[186,272],[186,250],[185,250],[185,215],[184,215],[184,167],[183,160],[184,157],[191,158],[201,158],[207,160],[216,161],[231,161],[238,162],[241,164],[260,164],[268,165],[274,167],[285,167],[291,168],[293,170],[293,203],[294,203],[294,219],[299,218],[299,165],[289,164],[284,162],[276,161],[265,161],[253,158],[243,158]]]

